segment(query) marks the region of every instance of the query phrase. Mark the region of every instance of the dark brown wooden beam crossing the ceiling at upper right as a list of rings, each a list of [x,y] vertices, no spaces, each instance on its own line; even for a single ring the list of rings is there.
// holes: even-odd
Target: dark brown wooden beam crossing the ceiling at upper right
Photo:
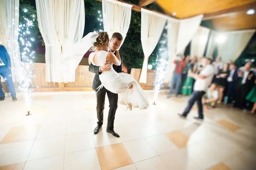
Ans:
[[[225,17],[227,15],[229,15],[230,13],[236,13],[236,12],[241,12],[241,11],[247,11],[248,9],[256,9],[256,2],[253,3],[248,3],[242,6],[236,6],[230,9],[224,9],[221,11],[217,11],[217,12],[212,12],[209,14],[204,14],[204,18],[203,20],[211,20],[214,18],[218,18],[218,17]]]

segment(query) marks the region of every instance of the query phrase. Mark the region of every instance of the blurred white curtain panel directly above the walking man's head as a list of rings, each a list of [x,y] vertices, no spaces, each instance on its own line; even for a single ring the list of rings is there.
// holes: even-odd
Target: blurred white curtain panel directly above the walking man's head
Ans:
[[[198,30],[190,43],[190,55],[192,58],[194,56],[198,56],[198,58],[204,56],[209,33],[210,29],[203,26],[198,27]]]

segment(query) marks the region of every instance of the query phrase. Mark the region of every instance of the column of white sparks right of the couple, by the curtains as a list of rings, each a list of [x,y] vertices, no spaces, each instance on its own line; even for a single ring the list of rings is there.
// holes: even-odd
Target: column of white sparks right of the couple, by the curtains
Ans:
[[[167,27],[165,27],[165,30],[163,32],[163,40],[160,40],[160,48],[159,52],[157,54],[156,63],[153,65],[156,65],[156,78],[154,81],[154,104],[157,100],[157,95],[160,90],[160,88],[163,85],[163,78],[166,75],[166,68],[168,66],[168,50],[167,50],[167,34],[166,34]]]

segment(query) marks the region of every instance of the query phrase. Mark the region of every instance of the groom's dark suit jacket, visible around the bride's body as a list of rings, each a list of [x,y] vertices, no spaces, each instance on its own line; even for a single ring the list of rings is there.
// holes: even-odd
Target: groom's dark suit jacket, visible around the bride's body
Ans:
[[[114,55],[116,55],[116,54],[114,53]],[[118,73],[122,72],[122,63],[120,66],[116,66],[113,64],[113,69]],[[92,88],[93,88],[93,90],[96,90],[102,84],[101,81],[99,80],[99,75],[102,72],[99,72],[99,66],[94,66],[92,63],[89,66],[89,71],[95,73]],[[105,90],[105,87],[103,87],[102,90]]]

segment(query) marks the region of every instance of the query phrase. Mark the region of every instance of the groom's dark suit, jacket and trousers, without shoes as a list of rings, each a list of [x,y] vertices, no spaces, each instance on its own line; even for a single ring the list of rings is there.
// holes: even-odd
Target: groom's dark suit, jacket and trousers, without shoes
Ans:
[[[122,72],[122,63],[120,66],[113,65],[113,69],[118,73]],[[98,91],[97,88],[102,84],[101,81],[99,80],[99,75],[102,72],[99,72],[99,66],[94,66],[93,64],[90,64],[89,71],[95,73],[92,88],[93,88],[93,90],[96,91],[96,98],[97,98],[97,117],[98,117],[97,124],[99,127],[101,127],[103,124],[103,111],[105,109],[105,107],[104,107],[105,106],[105,96],[107,93],[108,101],[109,101],[109,108],[110,108],[109,112],[108,112],[107,130],[113,130],[116,109],[117,109],[117,102],[118,102],[118,94],[108,91],[107,89],[105,89],[105,87],[103,87],[102,89],[99,90],[99,92],[97,92]]]

